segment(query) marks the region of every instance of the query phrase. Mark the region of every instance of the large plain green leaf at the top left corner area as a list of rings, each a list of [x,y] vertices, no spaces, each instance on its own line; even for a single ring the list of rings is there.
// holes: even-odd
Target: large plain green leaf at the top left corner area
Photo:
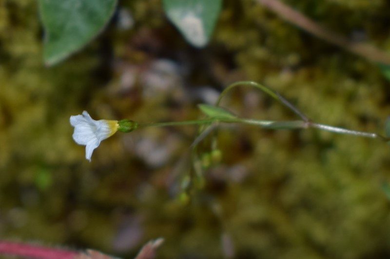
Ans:
[[[91,41],[110,20],[116,5],[117,0],[39,0],[46,65],[62,61]]]

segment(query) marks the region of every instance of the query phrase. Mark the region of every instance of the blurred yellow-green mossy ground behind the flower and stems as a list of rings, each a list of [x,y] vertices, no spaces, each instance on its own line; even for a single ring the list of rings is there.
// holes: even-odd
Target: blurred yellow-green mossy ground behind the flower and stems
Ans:
[[[390,49],[388,1],[284,2],[354,41]],[[185,42],[158,0],[120,1],[106,30],[54,67],[43,64],[42,37],[36,1],[0,0],[1,239],[123,258],[157,237],[165,238],[158,258],[390,257],[381,190],[390,150],[380,141],[222,126],[222,159],[205,167],[204,187],[185,203],[178,186],[191,168],[195,126],[117,133],[89,163],[69,124],[83,110],[96,120],[196,119],[196,104],[245,79],[315,121],[381,132],[390,85],[374,64],[252,0],[224,0],[203,49]],[[245,117],[294,118],[248,87],[223,105]]]

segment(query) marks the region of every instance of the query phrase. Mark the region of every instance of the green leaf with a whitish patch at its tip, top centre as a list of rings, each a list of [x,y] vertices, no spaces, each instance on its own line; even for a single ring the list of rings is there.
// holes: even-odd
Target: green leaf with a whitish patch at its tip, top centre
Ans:
[[[222,0],[163,0],[167,17],[184,38],[201,48],[209,42]]]

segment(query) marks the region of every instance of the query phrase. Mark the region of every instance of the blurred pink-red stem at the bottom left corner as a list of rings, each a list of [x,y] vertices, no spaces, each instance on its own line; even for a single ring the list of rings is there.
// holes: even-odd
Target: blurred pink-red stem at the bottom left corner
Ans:
[[[0,241],[0,255],[36,259],[74,259],[78,253],[39,245]]]

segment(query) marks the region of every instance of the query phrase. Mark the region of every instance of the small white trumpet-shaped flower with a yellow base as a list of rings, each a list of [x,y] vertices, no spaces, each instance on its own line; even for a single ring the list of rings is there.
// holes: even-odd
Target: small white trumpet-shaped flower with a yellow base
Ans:
[[[95,121],[86,111],[83,111],[82,115],[71,116],[70,124],[75,127],[73,139],[79,145],[85,146],[85,158],[90,162],[92,152],[99,146],[100,141],[114,135],[119,126],[118,121]]]

